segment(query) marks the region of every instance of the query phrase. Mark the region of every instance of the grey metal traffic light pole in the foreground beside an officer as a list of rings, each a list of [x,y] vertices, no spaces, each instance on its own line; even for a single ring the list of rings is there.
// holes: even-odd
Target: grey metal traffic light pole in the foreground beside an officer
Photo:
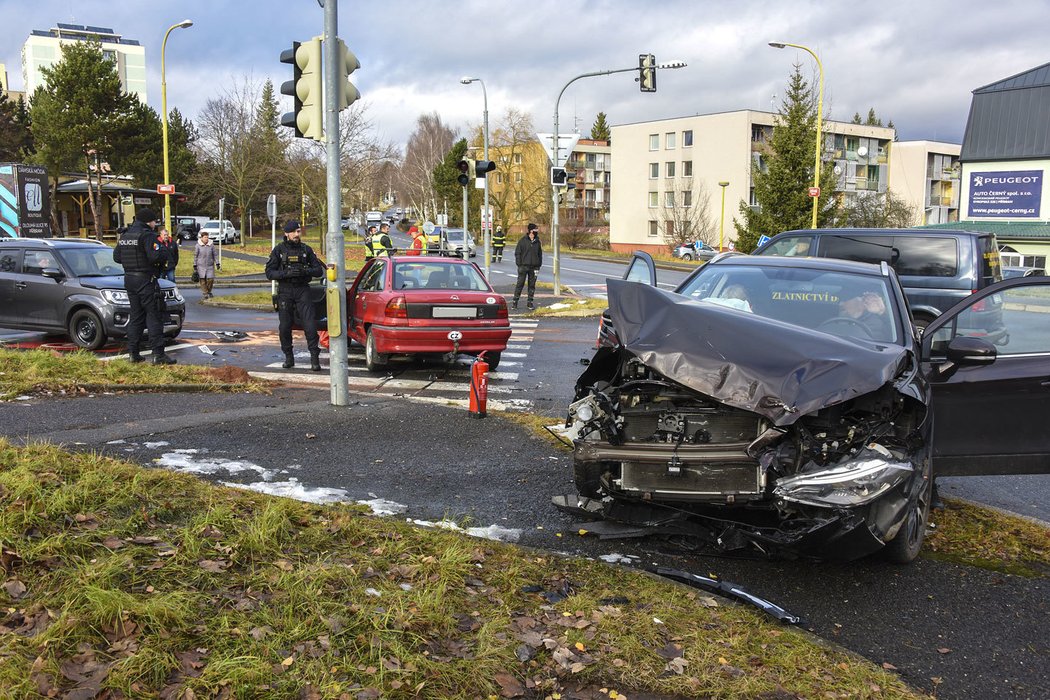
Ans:
[[[337,314],[336,324],[329,321],[330,328],[339,328],[340,333],[331,334],[329,345],[329,384],[332,389],[333,406],[350,404],[350,368],[346,365],[346,241],[339,227],[342,216],[342,185],[339,173],[339,94],[340,48],[336,41],[338,36],[338,0],[324,0],[324,148],[328,154],[328,235],[324,250],[329,264],[335,264],[335,279],[328,280],[334,284],[336,297],[329,296],[329,315]]]

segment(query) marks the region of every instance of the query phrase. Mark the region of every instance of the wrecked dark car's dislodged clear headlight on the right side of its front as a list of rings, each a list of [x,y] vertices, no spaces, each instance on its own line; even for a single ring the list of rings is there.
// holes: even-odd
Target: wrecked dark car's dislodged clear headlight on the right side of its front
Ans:
[[[855,508],[872,503],[914,471],[886,448],[870,445],[833,467],[778,480],[773,495],[821,508]]]

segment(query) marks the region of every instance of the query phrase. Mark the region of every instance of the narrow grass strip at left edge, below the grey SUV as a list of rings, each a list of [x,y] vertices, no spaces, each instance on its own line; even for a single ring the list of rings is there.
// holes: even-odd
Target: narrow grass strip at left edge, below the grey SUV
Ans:
[[[34,394],[84,394],[87,388],[121,386],[194,385],[226,391],[267,391],[268,384],[240,367],[161,365],[128,360],[102,362],[98,356],[77,351],[12,351],[0,348],[0,400]]]

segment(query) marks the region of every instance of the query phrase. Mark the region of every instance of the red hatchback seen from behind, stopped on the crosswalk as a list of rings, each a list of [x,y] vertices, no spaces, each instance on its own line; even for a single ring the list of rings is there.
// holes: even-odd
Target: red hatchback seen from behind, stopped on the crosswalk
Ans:
[[[346,291],[350,338],[370,372],[391,355],[485,353],[491,369],[510,339],[507,301],[481,270],[457,258],[379,257]]]

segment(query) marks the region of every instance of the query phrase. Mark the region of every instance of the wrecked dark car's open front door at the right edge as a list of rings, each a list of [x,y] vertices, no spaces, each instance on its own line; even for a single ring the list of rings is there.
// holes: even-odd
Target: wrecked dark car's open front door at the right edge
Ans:
[[[929,324],[939,476],[1050,473],[1050,277],[1004,280]]]

